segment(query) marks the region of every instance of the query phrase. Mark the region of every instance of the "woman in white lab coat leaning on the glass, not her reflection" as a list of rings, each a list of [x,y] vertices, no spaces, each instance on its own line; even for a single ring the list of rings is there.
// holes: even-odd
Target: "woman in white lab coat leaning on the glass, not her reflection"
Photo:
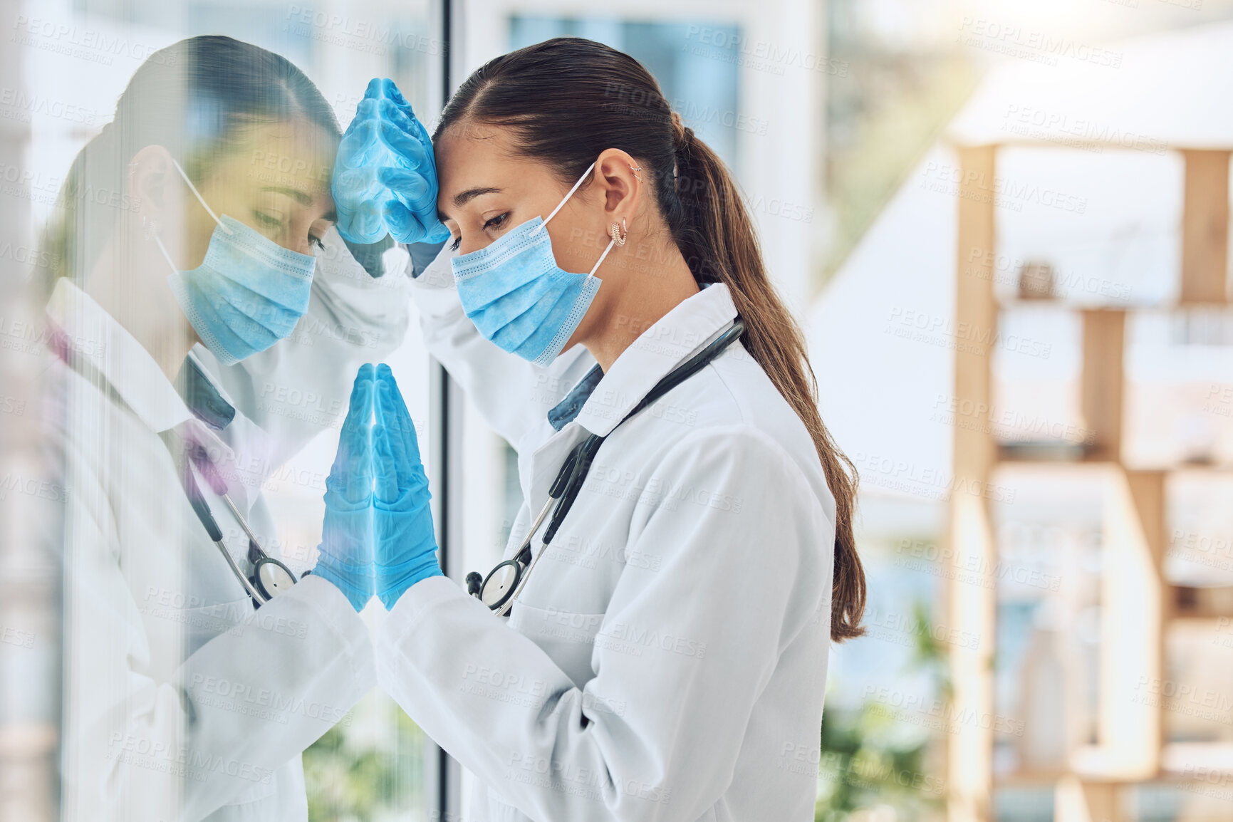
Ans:
[[[735,182],[637,62],[584,39],[475,71],[433,142],[453,243],[412,292],[517,447],[506,560],[571,449],[608,439],[508,620],[439,574],[401,592],[382,686],[478,778],[471,820],[813,820],[829,643],[864,605],[854,477]],[[739,344],[621,421],[737,318]],[[381,455],[408,423],[379,412]],[[379,489],[416,487],[390,465]],[[399,534],[375,546],[387,599]]]

